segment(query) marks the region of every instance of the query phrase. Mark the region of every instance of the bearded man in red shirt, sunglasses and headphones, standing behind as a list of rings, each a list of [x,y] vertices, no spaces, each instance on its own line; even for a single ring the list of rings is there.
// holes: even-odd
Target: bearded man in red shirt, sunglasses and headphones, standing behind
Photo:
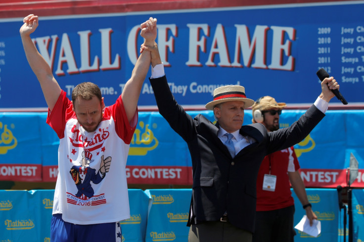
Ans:
[[[262,123],[268,132],[278,130],[279,115],[284,107],[285,103],[277,103],[273,97],[261,97],[252,106],[252,121]],[[299,168],[293,146],[269,154],[262,161],[257,179],[253,242],[293,242],[295,206],[290,183],[310,224],[317,219],[307,199]]]

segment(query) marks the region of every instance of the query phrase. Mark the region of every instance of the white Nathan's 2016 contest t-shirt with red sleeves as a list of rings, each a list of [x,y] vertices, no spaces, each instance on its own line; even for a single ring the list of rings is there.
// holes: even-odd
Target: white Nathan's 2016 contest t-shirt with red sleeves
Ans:
[[[137,124],[128,122],[121,96],[105,108],[97,129],[88,133],[77,121],[62,90],[46,121],[59,137],[58,177],[52,214],[66,222],[97,224],[130,218],[126,163]],[[100,166],[111,161],[109,171]]]

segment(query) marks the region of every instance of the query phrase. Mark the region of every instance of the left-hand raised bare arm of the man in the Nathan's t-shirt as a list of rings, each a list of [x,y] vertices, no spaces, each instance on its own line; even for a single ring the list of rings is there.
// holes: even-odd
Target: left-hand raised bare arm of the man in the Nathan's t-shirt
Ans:
[[[20,28],[20,36],[23,42],[25,55],[30,67],[41,84],[43,95],[46,98],[46,103],[51,111],[57,102],[59,94],[61,93],[61,88],[54,79],[48,63],[39,53],[30,38],[30,34],[32,34],[38,27],[38,16],[30,14],[24,18],[23,22],[24,24]]]

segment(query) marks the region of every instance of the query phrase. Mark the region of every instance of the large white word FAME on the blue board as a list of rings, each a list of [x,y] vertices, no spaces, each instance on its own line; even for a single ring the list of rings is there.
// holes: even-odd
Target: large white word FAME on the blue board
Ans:
[[[240,52],[242,52],[243,63],[246,67],[274,69],[274,70],[286,70],[292,71],[294,68],[294,58],[291,56],[291,40],[295,40],[296,31],[291,27],[278,27],[272,26],[269,28],[265,25],[257,25],[254,31],[252,40],[250,40],[249,30],[246,25],[234,25],[236,28],[235,33],[235,50],[234,61],[230,64],[227,38],[224,31],[224,26],[218,24],[215,30],[215,34],[212,40],[212,47],[209,52],[208,61],[205,63],[207,66],[216,66],[214,63],[214,57],[219,54],[220,62],[219,66],[223,67],[243,67],[240,64]],[[199,40],[199,31],[203,30],[204,34],[210,36],[210,28],[207,24],[187,24],[189,28],[189,55],[187,66],[202,66],[199,60],[199,48],[203,52],[206,52],[206,38],[201,37]],[[266,44],[267,44],[267,32],[273,31],[272,42],[272,59],[271,65],[267,67],[266,63]],[[283,43],[284,35],[287,33],[290,40]],[[283,65],[283,54],[287,56],[287,62]],[[255,62],[251,64],[255,57]]]

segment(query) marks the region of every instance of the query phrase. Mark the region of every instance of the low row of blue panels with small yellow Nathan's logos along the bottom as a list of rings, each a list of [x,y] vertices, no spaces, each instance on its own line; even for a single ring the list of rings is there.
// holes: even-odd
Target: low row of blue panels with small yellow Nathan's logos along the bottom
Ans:
[[[313,211],[321,222],[321,233],[312,237],[296,231],[297,242],[343,242],[344,214],[339,210],[336,189],[306,189]],[[364,241],[364,190],[354,189],[352,201],[353,239]],[[0,190],[0,241],[49,242],[54,190]],[[130,219],[120,221],[122,242],[185,242],[191,189],[129,189]],[[294,224],[303,215],[295,196]],[[349,221],[349,220],[348,220]],[[348,237],[346,224],[346,237]],[[348,241],[348,238],[346,238]]]

